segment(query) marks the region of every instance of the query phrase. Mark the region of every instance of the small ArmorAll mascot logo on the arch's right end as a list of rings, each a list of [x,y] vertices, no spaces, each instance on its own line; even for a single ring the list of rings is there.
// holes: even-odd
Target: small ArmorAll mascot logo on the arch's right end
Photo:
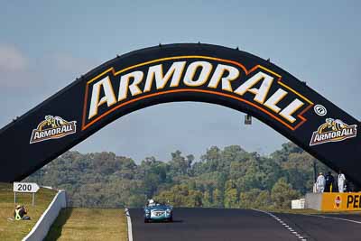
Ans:
[[[326,123],[313,132],[310,145],[335,143],[356,137],[357,125],[347,125],[339,119],[327,118]]]

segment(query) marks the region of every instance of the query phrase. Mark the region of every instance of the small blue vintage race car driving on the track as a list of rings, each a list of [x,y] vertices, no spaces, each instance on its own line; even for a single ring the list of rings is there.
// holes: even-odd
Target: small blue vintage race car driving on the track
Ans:
[[[144,223],[150,221],[173,221],[173,207],[165,201],[150,199],[144,207]]]

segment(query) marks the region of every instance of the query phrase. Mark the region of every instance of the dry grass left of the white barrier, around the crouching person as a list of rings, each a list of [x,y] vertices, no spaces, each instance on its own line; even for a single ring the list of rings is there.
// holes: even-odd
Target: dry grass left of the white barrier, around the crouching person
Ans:
[[[17,204],[25,205],[28,209],[28,216],[32,220],[11,221],[8,218],[14,218],[13,184],[0,183],[0,240],[22,240],[32,230],[45,209],[48,208],[56,193],[55,190],[39,190],[35,194],[34,207],[32,207],[32,194],[17,193]]]

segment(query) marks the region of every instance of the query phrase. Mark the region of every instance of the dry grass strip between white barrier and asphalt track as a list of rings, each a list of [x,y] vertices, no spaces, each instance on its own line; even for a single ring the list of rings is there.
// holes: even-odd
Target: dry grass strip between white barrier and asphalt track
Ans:
[[[62,209],[51,226],[52,240],[127,240],[124,209]]]

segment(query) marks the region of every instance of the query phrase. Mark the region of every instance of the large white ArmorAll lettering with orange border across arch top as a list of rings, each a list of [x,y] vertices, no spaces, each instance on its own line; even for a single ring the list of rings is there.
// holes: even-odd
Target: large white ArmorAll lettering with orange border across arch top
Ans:
[[[110,67],[87,82],[81,129],[116,109],[147,98],[176,93],[214,95],[242,102],[291,130],[307,119],[313,102],[264,66],[250,70],[235,60],[174,56],[141,62],[122,70]]]

